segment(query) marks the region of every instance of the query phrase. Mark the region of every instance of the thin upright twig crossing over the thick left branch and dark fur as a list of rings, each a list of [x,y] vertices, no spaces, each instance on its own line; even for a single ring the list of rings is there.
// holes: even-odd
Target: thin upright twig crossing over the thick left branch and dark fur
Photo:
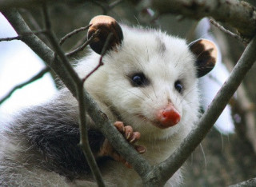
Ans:
[[[98,165],[94,159],[94,154],[92,153],[90,149],[90,144],[88,140],[88,132],[86,127],[86,101],[84,99],[85,93],[83,92],[83,82],[78,77],[78,74],[74,71],[73,67],[70,65],[70,62],[66,58],[64,52],[62,51],[61,47],[58,45],[57,38],[54,36],[54,33],[51,30],[50,26],[50,16],[48,13],[48,9],[45,6],[43,6],[43,15],[45,18],[45,24],[46,24],[46,36],[49,38],[50,44],[54,47],[54,50],[56,51],[56,54],[58,54],[58,57],[61,58],[63,65],[65,66],[68,74],[70,75],[70,78],[72,78],[75,86],[76,86],[76,92],[77,92],[77,99],[78,99],[78,107],[79,109],[79,129],[80,129],[80,147],[82,148],[83,153],[86,156],[86,160],[88,162],[88,165],[90,166],[91,172],[94,175],[95,181],[98,183],[98,186],[105,186],[104,181],[102,179],[102,174],[100,173],[100,170],[98,169]]]

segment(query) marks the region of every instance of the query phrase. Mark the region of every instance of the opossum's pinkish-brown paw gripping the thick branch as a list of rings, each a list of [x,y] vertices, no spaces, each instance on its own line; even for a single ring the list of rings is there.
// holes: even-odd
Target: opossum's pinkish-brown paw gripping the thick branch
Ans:
[[[135,143],[140,138],[141,134],[139,132],[134,132],[130,125],[125,126],[122,121],[116,121],[114,126],[118,129],[120,133],[130,142],[130,145],[134,146],[134,149],[138,153],[145,153],[146,148],[142,145],[135,145]],[[131,165],[110,145],[110,142],[106,139],[100,149],[100,156],[112,157],[114,161],[121,161],[126,165],[126,167],[131,168]]]

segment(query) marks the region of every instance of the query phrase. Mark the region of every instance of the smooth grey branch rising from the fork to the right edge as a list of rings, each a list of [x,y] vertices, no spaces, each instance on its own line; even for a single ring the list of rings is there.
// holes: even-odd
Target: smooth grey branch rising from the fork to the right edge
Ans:
[[[202,139],[206,137],[210,128],[217,121],[222,110],[226,107],[230,98],[234,95],[238,86],[245,78],[246,73],[250,70],[256,61],[256,37],[254,37],[249,45],[244,50],[242,57],[239,59],[234,70],[230,74],[230,78],[223,84],[222,88],[218,91],[218,94],[214,97],[214,101],[211,102],[209,108],[206,110],[198,122],[197,128],[186,137],[178,149],[166,160],[154,167],[154,170],[149,175],[146,181],[146,186],[158,186],[164,184],[170,176],[172,176],[186,161],[187,157],[194,151],[194,149],[200,144]],[[155,178],[158,179],[158,183],[155,183]],[[158,185],[156,185],[158,184]]]

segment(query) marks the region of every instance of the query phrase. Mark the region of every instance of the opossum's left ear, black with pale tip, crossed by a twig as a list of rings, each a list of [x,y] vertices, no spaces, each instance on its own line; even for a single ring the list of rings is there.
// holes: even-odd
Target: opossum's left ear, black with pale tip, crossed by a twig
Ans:
[[[94,41],[90,43],[90,47],[97,54],[102,53],[102,49],[106,43],[106,38],[110,35],[110,41],[106,46],[107,50],[112,50],[114,46],[120,45],[122,43],[123,35],[121,26],[118,22],[110,17],[105,15],[99,15],[90,20],[90,28],[88,30],[88,38],[91,37],[98,30],[98,34]]]

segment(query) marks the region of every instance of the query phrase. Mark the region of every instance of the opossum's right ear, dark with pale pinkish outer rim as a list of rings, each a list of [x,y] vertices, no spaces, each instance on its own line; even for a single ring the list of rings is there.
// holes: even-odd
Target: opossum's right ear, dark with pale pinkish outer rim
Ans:
[[[189,44],[190,50],[196,57],[197,77],[208,74],[214,69],[217,60],[217,47],[213,42],[206,39],[198,39]]]

